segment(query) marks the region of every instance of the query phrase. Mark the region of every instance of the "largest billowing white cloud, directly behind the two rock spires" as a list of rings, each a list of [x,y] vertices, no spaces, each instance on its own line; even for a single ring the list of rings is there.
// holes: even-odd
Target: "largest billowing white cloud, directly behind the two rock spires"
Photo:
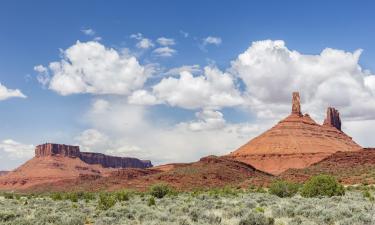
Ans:
[[[246,84],[247,102],[260,117],[285,114],[292,91],[299,91],[309,113],[322,116],[332,105],[358,119],[375,115],[374,75],[362,70],[360,54],[326,48],[306,55],[283,41],[265,40],[253,42],[232,62],[231,71]]]

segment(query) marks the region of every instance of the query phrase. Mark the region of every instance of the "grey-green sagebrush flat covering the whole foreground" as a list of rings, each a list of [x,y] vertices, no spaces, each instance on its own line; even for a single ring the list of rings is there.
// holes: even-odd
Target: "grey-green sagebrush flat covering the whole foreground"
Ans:
[[[175,193],[2,194],[0,224],[375,224],[373,190],[343,196],[280,198],[262,189]]]

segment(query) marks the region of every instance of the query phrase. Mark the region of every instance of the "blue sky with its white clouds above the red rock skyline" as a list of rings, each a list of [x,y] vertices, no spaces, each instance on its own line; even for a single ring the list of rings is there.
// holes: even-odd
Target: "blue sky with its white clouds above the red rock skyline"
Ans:
[[[224,154],[287,115],[295,89],[318,122],[333,104],[349,135],[375,145],[368,136],[375,124],[374,8],[371,1],[2,1],[0,83],[22,95],[0,100],[0,169],[16,167],[46,141],[156,163]],[[110,68],[100,75],[70,61],[74,47],[72,57],[87,59],[82,48],[103,47],[120,61],[99,59]],[[139,72],[140,83],[116,73],[131,57],[150,70]],[[49,67],[64,60],[84,71],[85,88],[67,92],[72,84],[57,79],[80,76]],[[112,89],[117,83],[129,90]]]

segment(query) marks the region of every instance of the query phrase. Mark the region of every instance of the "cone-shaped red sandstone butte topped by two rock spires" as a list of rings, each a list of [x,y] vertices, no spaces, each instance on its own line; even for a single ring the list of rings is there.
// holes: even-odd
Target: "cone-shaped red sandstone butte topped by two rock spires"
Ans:
[[[278,175],[290,168],[308,167],[335,152],[361,149],[341,130],[340,114],[335,108],[327,109],[320,125],[308,114],[302,114],[299,93],[294,92],[289,116],[227,157]]]

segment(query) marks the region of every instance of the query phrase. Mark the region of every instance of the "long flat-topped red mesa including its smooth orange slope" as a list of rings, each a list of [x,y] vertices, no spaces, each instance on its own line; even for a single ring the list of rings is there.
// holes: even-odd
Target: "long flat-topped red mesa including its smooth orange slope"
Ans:
[[[76,179],[84,176],[109,176],[119,168],[149,168],[148,160],[81,152],[78,146],[43,144],[35,157],[0,177],[0,189],[27,189],[36,184]]]

